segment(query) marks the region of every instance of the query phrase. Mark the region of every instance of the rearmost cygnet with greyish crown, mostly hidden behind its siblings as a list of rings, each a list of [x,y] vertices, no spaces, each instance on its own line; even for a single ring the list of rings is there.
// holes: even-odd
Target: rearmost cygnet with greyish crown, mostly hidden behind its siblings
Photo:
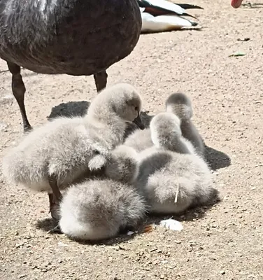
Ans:
[[[197,128],[192,123],[192,102],[183,93],[171,94],[166,100],[166,112],[174,113],[180,118],[180,129],[182,130],[183,137],[191,141],[194,148],[199,155],[204,155],[204,141],[201,138]]]

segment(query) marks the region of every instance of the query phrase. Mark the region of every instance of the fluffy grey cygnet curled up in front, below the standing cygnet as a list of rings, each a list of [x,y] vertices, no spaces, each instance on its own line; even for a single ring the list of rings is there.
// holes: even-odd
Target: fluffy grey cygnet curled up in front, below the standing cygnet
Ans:
[[[127,227],[134,228],[145,215],[143,198],[128,183],[138,172],[136,152],[119,146],[111,154],[105,170],[111,179],[83,181],[68,188],[62,198],[59,227],[71,238],[115,237]]]

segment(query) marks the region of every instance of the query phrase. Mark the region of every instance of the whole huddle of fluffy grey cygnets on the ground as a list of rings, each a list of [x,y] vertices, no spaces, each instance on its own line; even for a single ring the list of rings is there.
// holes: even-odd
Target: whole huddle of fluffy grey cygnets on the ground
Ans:
[[[108,87],[83,118],[57,118],[26,134],[3,158],[3,175],[47,192],[60,230],[79,240],[115,237],[146,214],[210,204],[217,190],[190,99],[171,94],[145,130],[141,109],[133,86]],[[140,130],[124,139],[132,122]]]

